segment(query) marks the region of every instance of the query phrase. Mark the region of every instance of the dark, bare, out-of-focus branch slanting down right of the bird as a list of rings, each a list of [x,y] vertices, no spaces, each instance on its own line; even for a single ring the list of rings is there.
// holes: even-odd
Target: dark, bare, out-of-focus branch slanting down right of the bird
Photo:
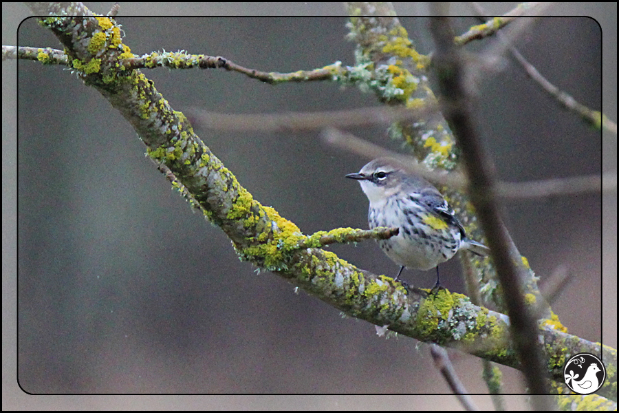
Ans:
[[[495,171],[484,156],[484,150],[479,144],[473,114],[470,112],[470,100],[464,85],[464,67],[453,45],[453,32],[448,20],[433,19],[431,31],[437,45],[434,63],[437,67],[439,87],[446,100],[459,103],[458,109],[446,108],[444,113],[450,120],[458,142],[463,151],[464,166],[470,176],[471,197],[481,225],[488,238],[488,246],[492,251],[492,258],[497,266],[497,276],[503,287],[503,298],[510,315],[512,337],[518,358],[532,394],[548,394],[543,357],[536,343],[537,326],[534,319],[528,315],[524,303],[523,277],[517,267],[512,264],[508,253],[508,236],[503,229],[497,205],[494,198]],[[551,407],[539,404],[537,408]],[[544,409],[546,410],[546,409]]]

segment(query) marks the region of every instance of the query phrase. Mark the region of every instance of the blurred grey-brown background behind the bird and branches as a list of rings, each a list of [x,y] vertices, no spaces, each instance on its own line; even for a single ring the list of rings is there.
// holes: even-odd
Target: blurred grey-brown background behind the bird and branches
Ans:
[[[345,17],[129,17],[343,13],[337,3],[243,4],[244,9],[220,3],[173,10],[150,4],[146,10],[144,3],[121,3],[117,20],[135,54],[186,50],[267,72],[310,70],[335,61],[354,64]],[[490,10],[503,14],[515,4],[490,3]],[[105,14],[111,3],[87,6]],[[424,3],[401,7],[396,10],[402,16],[426,14]],[[591,109],[602,109],[603,73],[605,114],[616,120],[616,3],[563,3],[548,13],[586,14],[600,23],[587,17],[541,18],[515,45],[552,83]],[[28,14],[21,4],[3,3],[3,44],[15,44],[14,30]],[[431,52],[428,21],[401,21],[420,51]],[[457,33],[477,23],[454,21]],[[18,35],[19,45],[59,48],[36,19],[21,21]],[[484,51],[492,41],[474,42],[466,50]],[[281,114],[378,104],[373,94],[332,82],[274,86],[226,70],[143,72],[180,111]],[[501,71],[481,77],[477,124],[501,179],[589,175],[602,167],[616,171],[616,136],[602,138],[560,109],[512,59],[503,61]],[[16,108],[17,129],[11,112]],[[349,131],[403,151],[385,129]],[[265,134],[196,127],[196,132],[256,200],[304,233],[367,228],[367,199],[356,182],[344,178],[367,159],[325,145],[320,131]],[[380,338],[371,324],[342,317],[323,301],[301,290],[294,293],[294,286],[276,275],[240,262],[224,233],[171,190],[144,152],[129,123],[69,70],[3,62],[3,405],[26,406],[16,377],[32,394],[449,393],[425,344],[402,336]],[[16,171],[17,213],[12,202]],[[560,264],[574,277],[552,303],[569,332],[616,347],[616,193],[510,200],[504,207],[510,234],[541,284]],[[13,216],[17,252],[10,232]],[[398,270],[373,242],[329,250],[373,273]],[[14,261],[7,261],[16,255],[17,274]],[[610,283],[603,289],[602,256]],[[441,267],[444,285],[462,292],[459,271],[457,260]],[[404,279],[428,287],[434,277],[433,271],[404,273]],[[17,346],[9,340],[16,330]],[[16,354],[17,376],[4,371],[15,365]],[[486,393],[481,361],[454,350],[450,354],[468,390]],[[519,372],[501,370],[504,391],[521,394]],[[199,407],[259,407],[246,405],[248,399],[208,400]],[[453,398],[441,400],[416,406],[457,408]],[[367,408],[373,401],[325,398],[298,406]],[[410,407],[410,401],[395,397],[381,405]],[[37,407],[36,399],[27,403]],[[131,406],[120,399],[110,404],[71,397],[54,403]],[[479,403],[484,406],[488,398]]]

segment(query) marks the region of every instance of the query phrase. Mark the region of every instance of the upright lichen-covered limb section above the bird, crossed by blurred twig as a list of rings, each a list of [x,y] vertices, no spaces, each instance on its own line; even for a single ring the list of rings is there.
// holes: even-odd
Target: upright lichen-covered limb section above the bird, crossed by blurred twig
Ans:
[[[343,74],[342,81],[373,91],[389,105],[436,107],[429,81],[430,59],[415,48],[391,3],[347,3],[347,9],[349,39],[357,45],[356,65]],[[415,158],[429,169],[451,170],[457,164],[455,140],[440,112],[396,123],[390,134],[408,143]]]

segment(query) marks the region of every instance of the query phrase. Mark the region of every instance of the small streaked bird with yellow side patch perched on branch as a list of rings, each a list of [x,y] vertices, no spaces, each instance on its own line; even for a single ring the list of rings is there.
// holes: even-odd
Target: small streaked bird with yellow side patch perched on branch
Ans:
[[[446,262],[460,249],[488,255],[489,249],[466,237],[443,195],[433,185],[415,175],[398,160],[378,158],[346,178],[359,181],[369,199],[367,220],[370,228],[389,226],[400,229],[398,235],[379,240],[378,245],[395,264],[429,270]]]

